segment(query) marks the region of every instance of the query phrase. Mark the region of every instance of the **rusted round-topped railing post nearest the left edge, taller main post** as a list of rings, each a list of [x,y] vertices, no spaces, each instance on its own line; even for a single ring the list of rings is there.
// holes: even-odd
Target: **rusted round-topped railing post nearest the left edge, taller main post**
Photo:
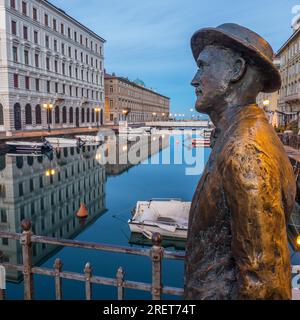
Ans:
[[[23,276],[24,276],[24,299],[33,300],[33,274],[32,274],[32,242],[31,242],[31,221],[23,220],[23,234],[21,237],[22,253],[23,253]]]

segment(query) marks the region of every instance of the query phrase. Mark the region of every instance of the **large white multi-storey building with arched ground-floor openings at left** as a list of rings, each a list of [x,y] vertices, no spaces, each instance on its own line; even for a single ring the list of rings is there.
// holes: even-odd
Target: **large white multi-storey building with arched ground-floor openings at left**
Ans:
[[[0,0],[0,35],[0,131],[102,121],[103,38],[45,0]]]

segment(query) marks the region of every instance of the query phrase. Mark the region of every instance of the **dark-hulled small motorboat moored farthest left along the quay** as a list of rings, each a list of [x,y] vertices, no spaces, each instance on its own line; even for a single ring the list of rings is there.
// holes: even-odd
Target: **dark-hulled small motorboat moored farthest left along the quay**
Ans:
[[[38,154],[51,152],[53,150],[51,143],[46,140],[42,140],[42,142],[9,141],[6,142],[6,145],[9,147],[9,151],[13,153]]]

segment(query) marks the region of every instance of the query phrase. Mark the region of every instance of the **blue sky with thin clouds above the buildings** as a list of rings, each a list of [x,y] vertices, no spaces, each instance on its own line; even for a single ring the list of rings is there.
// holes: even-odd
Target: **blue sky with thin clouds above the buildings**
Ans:
[[[105,69],[143,80],[171,98],[171,113],[191,115],[197,70],[190,39],[203,27],[233,22],[277,51],[291,36],[300,0],[50,0],[107,42]],[[300,8],[300,6],[299,6]],[[299,10],[300,13],[300,10]]]

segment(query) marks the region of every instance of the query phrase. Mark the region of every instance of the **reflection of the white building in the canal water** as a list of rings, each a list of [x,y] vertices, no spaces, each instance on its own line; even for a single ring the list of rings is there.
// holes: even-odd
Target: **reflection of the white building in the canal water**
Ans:
[[[34,234],[70,239],[105,212],[105,167],[95,158],[97,148],[63,148],[46,156],[0,157],[0,230],[21,232],[20,222],[32,221]],[[85,226],[76,217],[81,202],[89,216]],[[57,248],[33,246],[33,263],[42,263]],[[18,241],[0,239],[5,260],[22,263]],[[10,281],[21,280],[9,272]]]

